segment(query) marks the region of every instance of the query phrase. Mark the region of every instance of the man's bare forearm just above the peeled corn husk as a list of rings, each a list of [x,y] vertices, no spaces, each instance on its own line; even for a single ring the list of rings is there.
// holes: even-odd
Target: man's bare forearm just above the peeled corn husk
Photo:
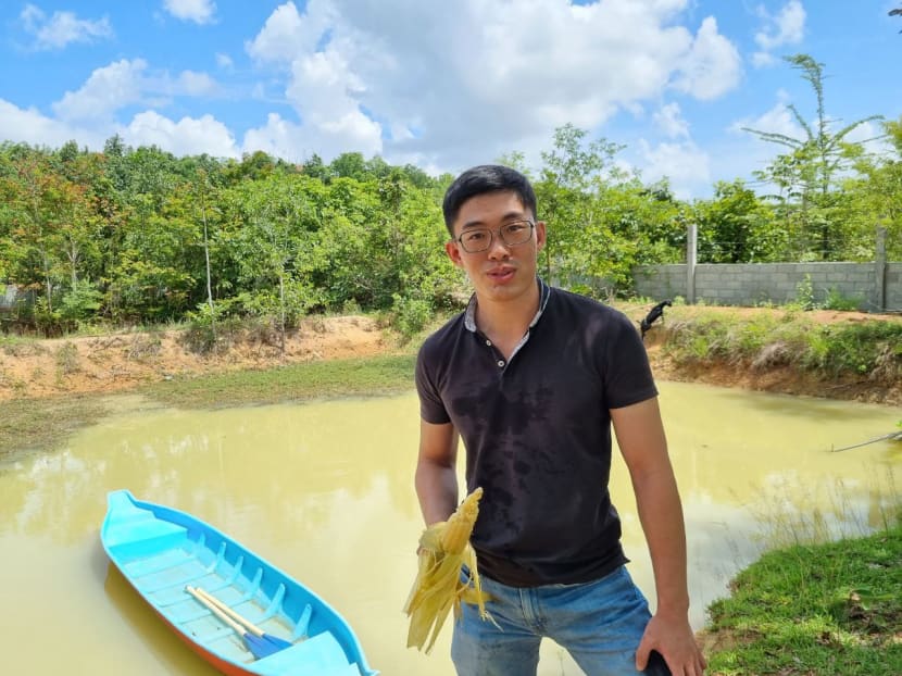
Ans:
[[[454,426],[421,421],[414,484],[427,526],[447,521],[458,506],[456,460],[458,431]]]

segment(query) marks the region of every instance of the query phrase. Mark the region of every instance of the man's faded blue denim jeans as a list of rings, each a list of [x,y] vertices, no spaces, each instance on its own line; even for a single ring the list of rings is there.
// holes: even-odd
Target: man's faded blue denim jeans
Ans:
[[[462,604],[451,641],[459,676],[535,675],[542,637],[564,648],[587,676],[639,674],[636,649],[651,615],[626,567],[579,585],[518,588],[483,577],[483,591],[491,594],[486,610],[500,630],[475,605]]]

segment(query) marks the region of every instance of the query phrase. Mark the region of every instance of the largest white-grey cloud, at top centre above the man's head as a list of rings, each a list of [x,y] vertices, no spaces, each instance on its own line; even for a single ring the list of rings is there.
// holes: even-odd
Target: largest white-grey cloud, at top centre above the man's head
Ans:
[[[598,128],[671,86],[700,99],[735,87],[735,47],[713,18],[694,36],[673,25],[685,8],[287,2],[246,49],[290,74],[285,95],[300,124],[363,135],[369,147],[381,138],[389,160],[454,171],[513,150],[537,155],[555,127]]]

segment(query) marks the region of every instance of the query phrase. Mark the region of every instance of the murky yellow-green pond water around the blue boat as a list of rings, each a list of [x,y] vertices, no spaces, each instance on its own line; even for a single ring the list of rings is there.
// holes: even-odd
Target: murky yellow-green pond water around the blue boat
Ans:
[[[897,409],[660,385],[696,627],[766,544],[807,531],[866,533],[886,515],[887,495],[902,490],[899,443],[829,452],[893,431]],[[196,514],[310,585],[350,621],[386,676],[453,674],[450,626],[429,656],[404,648],[401,606],[422,529],[413,393],[213,412],[123,408],[60,452],[0,467],[2,673],[214,673],[108,565],[98,539],[105,495],[129,488]],[[651,594],[621,463],[612,492],[632,575]],[[548,643],[539,673],[579,672]]]

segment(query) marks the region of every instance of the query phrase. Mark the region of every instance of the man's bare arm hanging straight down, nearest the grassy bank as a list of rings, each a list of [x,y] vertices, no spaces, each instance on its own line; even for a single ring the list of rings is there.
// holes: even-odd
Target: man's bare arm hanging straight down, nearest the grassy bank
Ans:
[[[675,676],[701,676],[705,661],[689,625],[686,575],[686,526],[657,399],[613,409],[617,436],[646,534],[657,608],[636,651],[643,669],[649,652],[660,652]]]

